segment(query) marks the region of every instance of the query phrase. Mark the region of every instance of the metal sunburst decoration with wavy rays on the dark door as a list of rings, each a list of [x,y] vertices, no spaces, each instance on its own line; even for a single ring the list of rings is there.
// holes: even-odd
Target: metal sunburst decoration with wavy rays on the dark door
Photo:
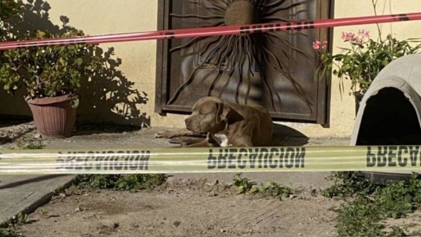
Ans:
[[[189,0],[189,2],[208,11],[209,14],[172,13],[171,16],[194,18],[208,22],[200,25],[201,27],[287,22],[289,21],[291,10],[300,5],[300,3],[292,3],[287,0]],[[302,34],[301,32],[288,32],[286,35],[296,33]],[[195,76],[201,67],[214,65],[214,78],[210,84],[208,95],[221,97],[226,87],[230,84],[232,75],[237,71],[239,79],[235,88],[235,100],[237,103],[247,104],[251,91],[250,76],[254,77],[255,74],[260,72],[260,78],[270,93],[273,110],[277,111],[274,99],[281,103],[281,97],[277,91],[274,91],[265,73],[262,73],[263,69],[272,68],[288,79],[296,94],[310,108],[310,102],[303,93],[300,84],[293,79],[287,64],[292,58],[291,52],[302,54],[309,60],[313,60],[313,56],[294,47],[284,35],[285,33],[282,34],[280,32],[266,32],[250,35],[196,37],[178,47],[172,48],[170,52],[195,48],[195,53],[201,55],[203,60],[195,66],[187,80],[175,91],[168,104],[174,103],[179,94],[196,79]],[[280,50],[278,52],[281,52],[281,54],[276,55],[271,52],[267,46],[268,44],[277,47]],[[281,47],[281,45],[284,47]],[[245,71],[244,68],[247,70]],[[215,86],[222,78],[224,72],[227,77],[224,77],[225,81],[222,82],[222,89],[215,91]],[[246,84],[247,89],[243,96],[244,101],[239,101],[240,88],[243,84]]]

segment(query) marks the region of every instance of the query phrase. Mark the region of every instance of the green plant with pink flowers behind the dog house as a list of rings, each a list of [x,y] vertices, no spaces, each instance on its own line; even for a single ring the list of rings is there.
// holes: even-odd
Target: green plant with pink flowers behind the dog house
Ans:
[[[350,94],[365,93],[378,73],[393,60],[404,55],[418,53],[421,44],[412,46],[410,43],[418,42],[415,39],[397,40],[389,34],[385,40],[377,41],[370,38],[370,32],[364,29],[357,34],[343,32],[342,39],[349,42],[349,48],[340,48],[342,53],[331,54],[326,52],[328,42],[313,43],[313,49],[320,53],[322,75],[331,72],[340,79],[340,91],[344,89],[344,79],[351,80]],[[329,73],[327,76],[330,76]]]

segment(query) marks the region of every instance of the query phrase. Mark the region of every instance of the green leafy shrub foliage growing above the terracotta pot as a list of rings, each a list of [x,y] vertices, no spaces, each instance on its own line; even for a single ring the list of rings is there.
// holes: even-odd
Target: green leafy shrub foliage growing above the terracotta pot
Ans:
[[[82,35],[82,31],[74,29],[57,35],[38,30],[27,39]],[[0,82],[9,93],[24,87],[31,98],[72,94],[76,99],[81,79],[94,76],[101,67],[93,45],[19,48],[4,52]]]

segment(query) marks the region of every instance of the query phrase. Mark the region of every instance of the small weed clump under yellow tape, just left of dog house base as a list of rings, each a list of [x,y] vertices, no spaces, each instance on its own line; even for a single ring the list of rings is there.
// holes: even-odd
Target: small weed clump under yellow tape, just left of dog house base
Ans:
[[[334,172],[328,179],[334,181],[331,187],[323,190],[323,196],[328,198],[343,198],[360,193],[372,193],[376,187],[372,183],[362,179],[357,172]]]

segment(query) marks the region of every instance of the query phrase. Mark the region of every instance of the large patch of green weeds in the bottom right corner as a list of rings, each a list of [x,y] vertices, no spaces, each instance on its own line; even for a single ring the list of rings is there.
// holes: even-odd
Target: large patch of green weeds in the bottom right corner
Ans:
[[[343,176],[351,177],[352,176]],[[355,199],[344,204],[338,210],[336,228],[340,236],[385,236],[385,226],[380,223],[385,218],[403,218],[413,213],[421,204],[420,174],[413,173],[409,183],[398,181],[386,186],[360,185],[356,188],[340,188],[336,196],[342,196],[355,190]],[[342,192],[344,191],[345,192]],[[374,190],[374,191],[373,191]],[[345,194],[344,194],[345,193]],[[406,235],[400,227],[391,227],[392,236]]]

